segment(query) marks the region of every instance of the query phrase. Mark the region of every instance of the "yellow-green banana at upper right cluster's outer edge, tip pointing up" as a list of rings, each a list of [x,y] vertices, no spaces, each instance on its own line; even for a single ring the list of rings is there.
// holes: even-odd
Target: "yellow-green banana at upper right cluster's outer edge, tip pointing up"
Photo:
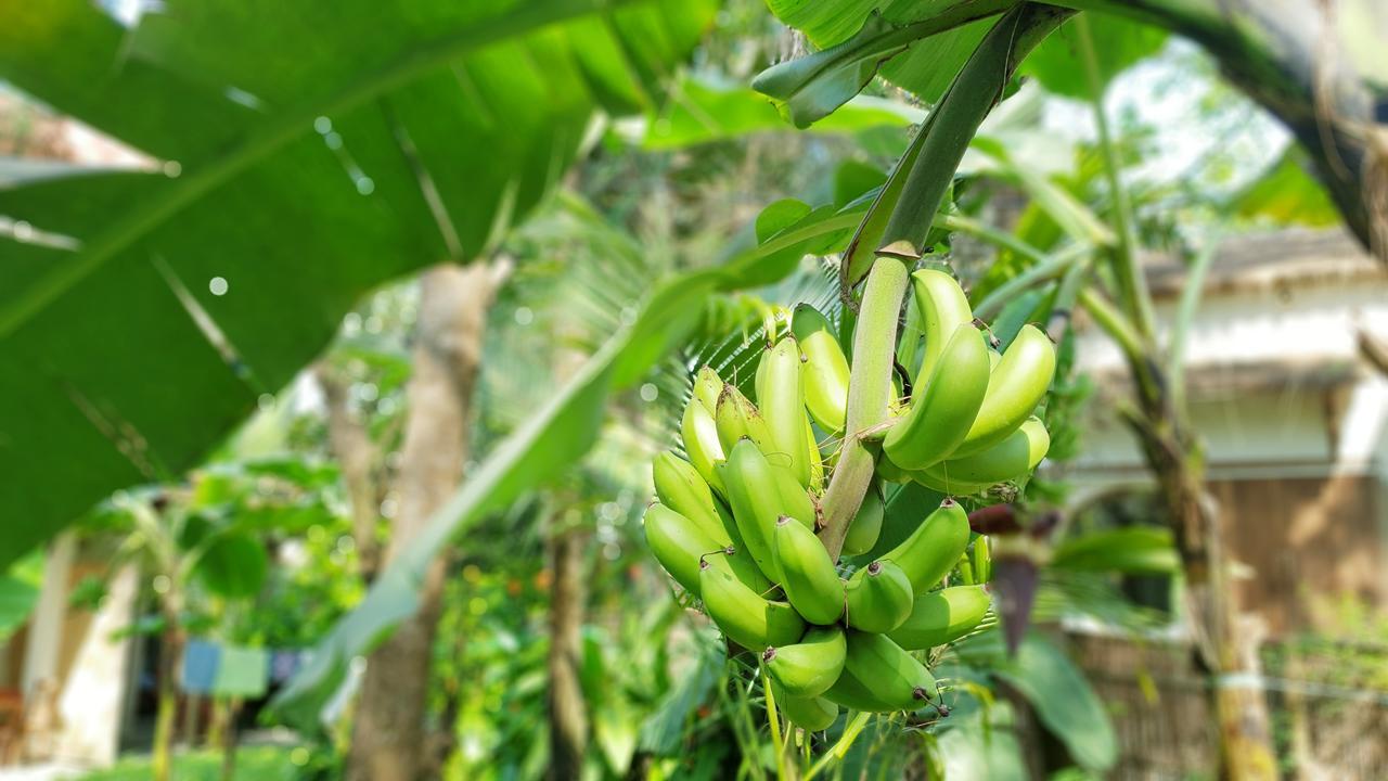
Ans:
[[[1034,325],[1023,325],[988,379],[979,416],[954,457],[972,456],[1002,442],[1031,417],[1055,375],[1055,345]]]

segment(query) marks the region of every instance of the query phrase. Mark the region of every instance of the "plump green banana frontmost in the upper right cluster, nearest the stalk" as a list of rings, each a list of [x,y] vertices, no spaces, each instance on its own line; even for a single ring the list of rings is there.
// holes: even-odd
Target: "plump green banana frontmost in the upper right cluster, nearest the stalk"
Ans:
[[[972,324],[958,327],[904,420],[887,431],[883,452],[904,470],[944,460],[963,443],[988,392],[988,346]]]

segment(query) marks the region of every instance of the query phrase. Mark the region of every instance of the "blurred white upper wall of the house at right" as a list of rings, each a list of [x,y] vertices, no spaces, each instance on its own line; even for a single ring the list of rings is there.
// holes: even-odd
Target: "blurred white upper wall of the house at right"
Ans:
[[[1174,306],[1173,300],[1158,306],[1163,338]],[[1388,378],[1359,357],[1359,329],[1388,343],[1388,275],[1209,293],[1188,338],[1187,375],[1202,386],[1191,397],[1191,417],[1206,443],[1212,477],[1253,477],[1251,470],[1259,466],[1252,470],[1256,477],[1270,478],[1280,464],[1287,477],[1371,472],[1388,478]],[[1231,389],[1241,365],[1269,364],[1292,367],[1292,381],[1281,388]],[[1334,365],[1357,367],[1357,375],[1339,389],[1310,384],[1317,370]],[[1095,377],[1123,372],[1117,349],[1092,327],[1080,335],[1078,367]],[[1074,477],[1108,482],[1141,470],[1141,454],[1112,404],[1090,410]]]

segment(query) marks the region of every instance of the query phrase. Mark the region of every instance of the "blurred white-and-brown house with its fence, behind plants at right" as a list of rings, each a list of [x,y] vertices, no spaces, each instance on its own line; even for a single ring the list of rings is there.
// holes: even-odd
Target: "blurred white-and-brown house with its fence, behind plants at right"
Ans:
[[[1146,272],[1166,328],[1185,267],[1155,257]],[[1117,349],[1095,328],[1080,339],[1080,367],[1098,393],[1124,393]],[[1309,231],[1230,239],[1187,345],[1192,425],[1206,446],[1238,606],[1259,635],[1252,646],[1262,650],[1263,680],[1253,684],[1289,714],[1274,737],[1326,778],[1388,773],[1382,345],[1388,271],[1348,235]],[[1067,474],[1077,504],[1117,506],[1151,485],[1113,410],[1088,406],[1083,452]],[[1205,684],[1184,643],[1077,641],[1123,732],[1127,771],[1209,767]]]

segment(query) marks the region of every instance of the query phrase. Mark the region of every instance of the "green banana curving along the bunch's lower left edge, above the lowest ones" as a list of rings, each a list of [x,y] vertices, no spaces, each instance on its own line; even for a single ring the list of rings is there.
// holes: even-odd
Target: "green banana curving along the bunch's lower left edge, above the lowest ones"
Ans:
[[[700,560],[698,593],[709,618],[743,648],[762,650],[769,645],[791,645],[805,634],[805,620],[794,607],[747,588],[719,556]]]

